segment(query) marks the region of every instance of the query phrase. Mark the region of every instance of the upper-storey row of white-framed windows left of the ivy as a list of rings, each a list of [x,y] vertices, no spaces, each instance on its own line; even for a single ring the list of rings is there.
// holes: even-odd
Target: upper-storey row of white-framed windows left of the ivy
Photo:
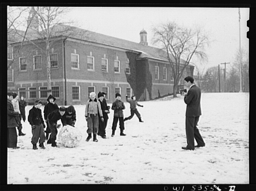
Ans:
[[[50,67],[58,67],[58,54],[50,54]],[[42,55],[33,56],[33,68],[34,70],[42,69]],[[19,58],[20,71],[27,70],[27,57]],[[79,54],[71,54],[71,69],[80,69]],[[94,56],[87,56],[87,70],[95,71]],[[101,59],[101,71],[108,72],[108,59]],[[114,60],[114,72],[120,73],[120,60]],[[130,73],[129,59],[126,61],[125,72]]]

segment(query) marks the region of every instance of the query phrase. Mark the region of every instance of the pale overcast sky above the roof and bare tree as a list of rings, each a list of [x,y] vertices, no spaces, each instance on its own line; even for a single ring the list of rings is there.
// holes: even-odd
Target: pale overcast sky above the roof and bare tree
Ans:
[[[203,64],[218,66],[222,62],[234,62],[239,50],[238,8],[203,7],[69,7],[66,19],[77,22],[80,28],[139,43],[139,32],[144,28],[151,43],[152,26],[175,21],[192,27],[200,26],[211,40],[207,49],[208,62]],[[249,8],[240,8],[241,47],[249,50],[246,38]],[[223,66],[223,65],[222,65]],[[228,65],[227,65],[228,67]]]

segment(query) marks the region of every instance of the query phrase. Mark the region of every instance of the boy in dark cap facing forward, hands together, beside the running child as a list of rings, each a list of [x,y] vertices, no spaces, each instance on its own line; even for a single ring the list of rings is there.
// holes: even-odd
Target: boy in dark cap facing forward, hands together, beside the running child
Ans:
[[[112,104],[111,109],[114,110],[114,119],[113,119],[113,124],[112,124],[111,137],[114,136],[114,133],[116,131],[118,119],[119,119],[120,135],[126,136],[126,134],[123,133],[123,131],[124,131],[123,109],[125,109],[125,106],[124,106],[124,103],[121,101],[120,93],[116,93],[116,101]]]

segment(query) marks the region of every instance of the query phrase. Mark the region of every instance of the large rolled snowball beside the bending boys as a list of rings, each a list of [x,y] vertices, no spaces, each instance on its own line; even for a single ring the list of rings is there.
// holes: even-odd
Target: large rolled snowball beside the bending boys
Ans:
[[[64,147],[77,147],[82,139],[82,133],[70,125],[63,126],[59,132],[58,140]]]

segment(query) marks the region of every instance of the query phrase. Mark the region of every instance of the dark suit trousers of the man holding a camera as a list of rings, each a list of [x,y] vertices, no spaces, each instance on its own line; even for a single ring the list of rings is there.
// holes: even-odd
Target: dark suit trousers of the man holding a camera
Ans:
[[[197,129],[197,123],[199,116],[188,117],[186,116],[186,136],[187,136],[187,148],[194,150],[194,138],[198,145],[204,145],[202,136]]]

